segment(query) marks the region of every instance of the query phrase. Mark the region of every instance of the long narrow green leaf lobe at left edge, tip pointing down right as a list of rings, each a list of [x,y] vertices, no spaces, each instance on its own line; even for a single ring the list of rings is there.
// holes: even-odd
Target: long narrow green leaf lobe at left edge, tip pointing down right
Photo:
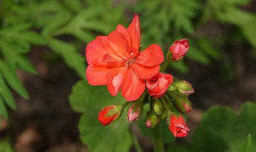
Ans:
[[[18,78],[18,76],[15,74],[15,70],[5,62],[0,60],[0,70],[3,76],[5,77],[5,80],[8,82],[8,84],[13,88],[16,92],[18,92],[22,97],[28,99],[29,95],[24,88],[21,80]]]

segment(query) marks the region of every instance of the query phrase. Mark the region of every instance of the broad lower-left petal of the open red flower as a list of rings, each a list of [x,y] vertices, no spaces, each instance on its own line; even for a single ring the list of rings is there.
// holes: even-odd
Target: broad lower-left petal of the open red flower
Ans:
[[[101,58],[95,60],[86,69],[86,78],[92,86],[106,85],[106,74],[117,67],[108,66]]]

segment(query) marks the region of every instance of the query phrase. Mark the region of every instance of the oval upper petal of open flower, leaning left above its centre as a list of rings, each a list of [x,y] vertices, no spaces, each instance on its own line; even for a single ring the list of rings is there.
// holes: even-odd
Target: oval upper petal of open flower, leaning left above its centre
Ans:
[[[113,31],[109,34],[109,44],[120,58],[127,59],[129,57],[129,54],[127,53],[129,44],[125,39],[125,36],[119,31]]]

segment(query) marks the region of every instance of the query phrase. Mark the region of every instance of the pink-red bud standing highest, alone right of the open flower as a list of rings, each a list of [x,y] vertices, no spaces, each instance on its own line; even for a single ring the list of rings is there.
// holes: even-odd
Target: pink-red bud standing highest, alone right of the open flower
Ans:
[[[187,39],[174,42],[169,49],[172,52],[172,62],[179,62],[187,54],[187,50],[189,50],[189,41]]]

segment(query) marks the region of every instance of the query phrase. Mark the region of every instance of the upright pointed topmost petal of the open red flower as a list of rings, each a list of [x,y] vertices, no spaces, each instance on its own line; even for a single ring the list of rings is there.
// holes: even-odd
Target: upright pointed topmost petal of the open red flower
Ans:
[[[131,46],[139,49],[141,35],[140,35],[139,17],[137,14],[134,15],[133,21],[131,21],[131,24],[127,28],[127,31],[129,32],[129,35],[131,37]]]

